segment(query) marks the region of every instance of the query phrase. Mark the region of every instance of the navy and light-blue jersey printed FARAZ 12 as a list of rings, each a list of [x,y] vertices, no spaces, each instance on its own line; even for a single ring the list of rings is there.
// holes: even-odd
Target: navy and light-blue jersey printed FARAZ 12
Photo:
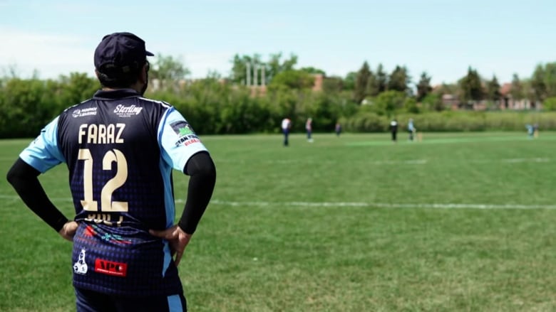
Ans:
[[[180,294],[168,242],[148,233],[175,218],[172,171],[207,151],[170,104],[130,89],[66,109],[20,157],[44,173],[66,163],[79,223],[73,284],[107,294]]]

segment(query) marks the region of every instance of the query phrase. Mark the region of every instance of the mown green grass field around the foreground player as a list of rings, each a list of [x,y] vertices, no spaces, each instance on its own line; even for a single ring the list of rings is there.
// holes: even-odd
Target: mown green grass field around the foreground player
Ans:
[[[556,311],[556,133],[202,136],[190,311]],[[29,140],[0,141],[0,173]],[[71,215],[65,166],[41,176]],[[187,177],[175,174],[179,211]],[[0,184],[0,311],[74,311],[71,244]]]

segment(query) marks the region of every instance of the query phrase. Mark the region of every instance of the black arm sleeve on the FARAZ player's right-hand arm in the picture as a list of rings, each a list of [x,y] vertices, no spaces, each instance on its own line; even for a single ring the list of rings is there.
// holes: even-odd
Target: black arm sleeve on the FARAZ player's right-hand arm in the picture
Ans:
[[[193,155],[184,168],[190,176],[187,200],[178,225],[187,234],[193,234],[212,196],[216,183],[215,163],[206,152]]]

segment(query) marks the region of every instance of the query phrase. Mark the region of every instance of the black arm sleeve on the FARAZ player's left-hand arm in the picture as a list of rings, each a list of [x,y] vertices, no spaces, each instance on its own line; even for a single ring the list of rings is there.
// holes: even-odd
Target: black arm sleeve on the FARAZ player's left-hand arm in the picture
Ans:
[[[58,232],[68,222],[68,218],[48,199],[41,183],[38,181],[39,174],[41,173],[38,170],[18,158],[14,166],[11,166],[6,178],[19,194],[21,200],[38,217],[41,217],[44,222]]]

